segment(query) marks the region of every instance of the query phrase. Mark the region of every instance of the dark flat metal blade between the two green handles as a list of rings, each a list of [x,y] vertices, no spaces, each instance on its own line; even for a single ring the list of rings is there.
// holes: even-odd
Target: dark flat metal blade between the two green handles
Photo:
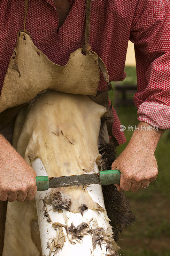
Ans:
[[[90,173],[81,175],[61,176],[49,178],[49,188],[62,188],[75,185],[100,184],[100,174]]]

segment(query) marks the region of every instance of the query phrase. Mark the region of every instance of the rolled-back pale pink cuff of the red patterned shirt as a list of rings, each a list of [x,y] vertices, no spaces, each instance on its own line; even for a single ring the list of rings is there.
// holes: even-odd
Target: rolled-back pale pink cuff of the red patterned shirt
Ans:
[[[138,111],[138,120],[157,126],[159,129],[170,129],[170,106],[155,102],[143,102]]]

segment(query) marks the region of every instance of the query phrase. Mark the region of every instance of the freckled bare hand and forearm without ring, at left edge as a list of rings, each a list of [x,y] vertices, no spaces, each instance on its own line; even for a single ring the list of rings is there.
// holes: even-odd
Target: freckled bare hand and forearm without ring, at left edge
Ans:
[[[36,194],[36,172],[0,135],[0,200],[23,202]]]

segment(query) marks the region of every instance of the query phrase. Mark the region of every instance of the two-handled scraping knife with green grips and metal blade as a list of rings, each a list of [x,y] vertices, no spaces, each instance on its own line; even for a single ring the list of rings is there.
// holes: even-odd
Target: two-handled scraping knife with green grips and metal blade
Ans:
[[[80,174],[61,177],[37,176],[36,186],[37,191],[48,190],[49,188],[62,188],[75,185],[90,185],[90,184],[119,184],[120,171],[99,171],[98,173]]]

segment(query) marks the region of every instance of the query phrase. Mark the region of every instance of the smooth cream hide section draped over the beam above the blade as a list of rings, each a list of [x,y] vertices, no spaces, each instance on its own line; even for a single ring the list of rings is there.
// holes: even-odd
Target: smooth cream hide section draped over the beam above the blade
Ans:
[[[39,95],[27,113],[17,151],[28,164],[40,157],[49,177],[56,170],[58,176],[89,172],[100,159],[97,141],[105,111],[83,95]]]

